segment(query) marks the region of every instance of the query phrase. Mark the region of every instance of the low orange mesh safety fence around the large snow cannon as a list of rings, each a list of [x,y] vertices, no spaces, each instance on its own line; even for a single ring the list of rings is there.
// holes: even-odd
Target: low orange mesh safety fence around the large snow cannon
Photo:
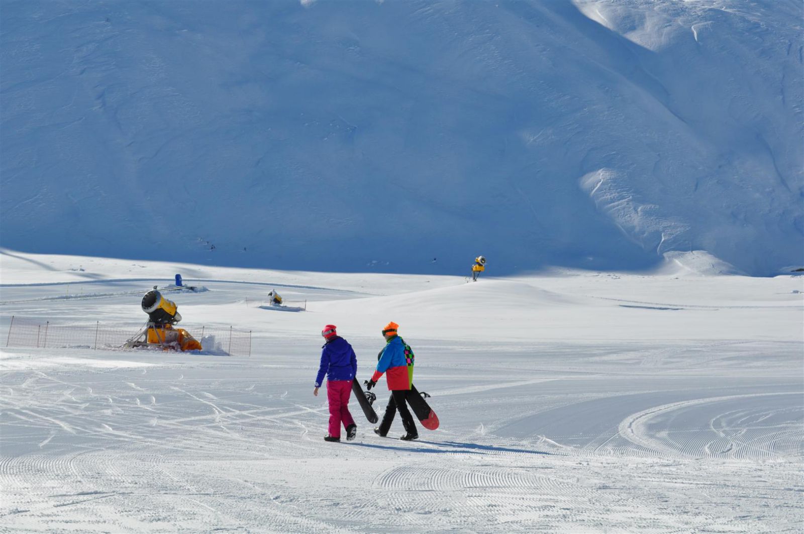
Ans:
[[[184,325],[182,325],[184,327]],[[41,319],[11,317],[6,347],[122,349],[143,327],[110,327],[95,324],[54,324]],[[250,356],[252,332],[228,328],[187,328],[199,339],[203,352]]]

